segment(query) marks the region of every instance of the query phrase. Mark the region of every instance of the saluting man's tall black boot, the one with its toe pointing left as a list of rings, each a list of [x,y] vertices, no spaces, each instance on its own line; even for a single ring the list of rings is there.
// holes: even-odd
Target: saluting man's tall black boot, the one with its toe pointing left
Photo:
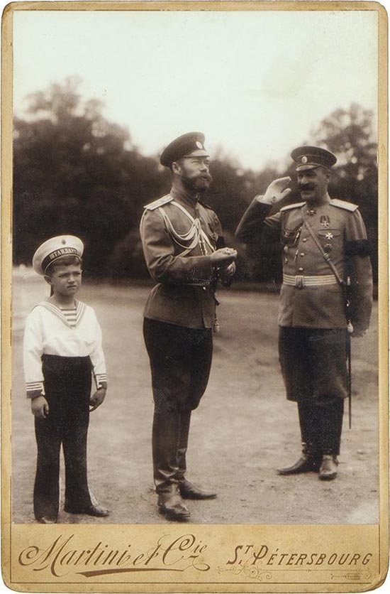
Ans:
[[[301,458],[285,468],[279,468],[279,475],[297,475],[300,473],[317,473],[321,465],[321,450],[318,446],[318,426],[313,401],[298,403],[299,425],[301,427]]]

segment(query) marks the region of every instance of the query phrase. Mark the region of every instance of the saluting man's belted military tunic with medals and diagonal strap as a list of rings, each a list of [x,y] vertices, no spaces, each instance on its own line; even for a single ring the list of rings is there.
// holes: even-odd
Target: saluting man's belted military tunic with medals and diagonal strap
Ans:
[[[265,234],[269,241],[280,240],[284,246],[279,325],[294,328],[347,325],[342,288],[303,225],[303,220],[307,220],[340,277],[351,278],[352,324],[356,330],[367,329],[372,308],[372,270],[367,233],[357,206],[330,200],[313,209],[306,202],[286,206],[272,216],[267,216],[269,210],[269,205],[255,198],[238,226],[237,236],[245,243],[253,243]]]

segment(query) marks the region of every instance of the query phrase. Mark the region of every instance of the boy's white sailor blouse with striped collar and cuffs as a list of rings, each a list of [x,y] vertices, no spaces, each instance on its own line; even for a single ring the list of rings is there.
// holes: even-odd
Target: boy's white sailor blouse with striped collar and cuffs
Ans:
[[[26,318],[23,364],[28,397],[45,394],[42,355],[90,357],[96,388],[106,382],[106,363],[101,346],[101,328],[94,310],[76,301],[76,315],[69,320],[50,301],[41,301]]]

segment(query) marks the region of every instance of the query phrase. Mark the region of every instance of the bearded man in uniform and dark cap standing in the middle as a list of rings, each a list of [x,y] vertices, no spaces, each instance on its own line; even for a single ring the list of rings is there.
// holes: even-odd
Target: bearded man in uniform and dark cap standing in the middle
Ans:
[[[147,269],[157,282],[144,311],[155,402],[152,455],[160,512],[185,520],[189,509],[183,498],[216,497],[186,480],[186,450],[191,411],[211,368],[216,284],[230,282],[237,252],[221,247],[218,217],[200,200],[212,179],[204,134],[179,136],[160,163],[172,172],[172,189],[145,206],[140,222]]]

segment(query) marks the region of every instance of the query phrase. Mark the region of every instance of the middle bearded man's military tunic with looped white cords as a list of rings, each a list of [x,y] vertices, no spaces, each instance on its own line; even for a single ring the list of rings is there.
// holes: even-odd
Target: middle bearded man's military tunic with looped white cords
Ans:
[[[193,220],[199,221],[208,242],[202,234],[196,240]],[[167,197],[145,207],[140,234],[147,269],[157,282],[147,299],[145,318],[186,328],[212,328],[216,275],[210,255],[222,235],[216,213],[172,189]]]

